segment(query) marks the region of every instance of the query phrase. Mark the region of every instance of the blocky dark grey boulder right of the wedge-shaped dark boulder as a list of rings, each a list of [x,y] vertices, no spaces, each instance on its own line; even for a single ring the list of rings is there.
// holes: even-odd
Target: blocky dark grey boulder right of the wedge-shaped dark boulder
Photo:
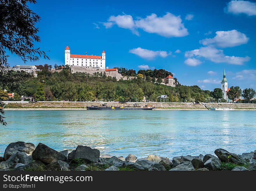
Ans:
[[[99,161],[99,150],[92,149],[91,147],[78,145],[76,150],[68,154],[68,159],[81,158],[88,163],[97,163]]]

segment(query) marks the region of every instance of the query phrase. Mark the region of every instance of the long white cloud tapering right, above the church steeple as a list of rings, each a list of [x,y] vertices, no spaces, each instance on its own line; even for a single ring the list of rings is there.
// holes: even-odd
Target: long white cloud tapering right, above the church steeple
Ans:
[[[200,47],[192,51],[185,52],[186,57],[203,57],[207,60],[211,60],[214,63],[229,63],[235,65],[243,65],[244,62],[250,60],[249,56],[246,57],[237,57],[237,56],[226,56],[223,53],[223,50],[216,49],[214,47]]]

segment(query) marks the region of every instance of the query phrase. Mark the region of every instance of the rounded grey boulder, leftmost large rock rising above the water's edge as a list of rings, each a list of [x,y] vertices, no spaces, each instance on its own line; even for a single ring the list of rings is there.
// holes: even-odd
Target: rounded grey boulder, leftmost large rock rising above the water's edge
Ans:
[[[6,147],[3,158],[4,160],[7,160],[11,155],[17,153],[18,151],[31,155],[34,150],[35,145],[33,143],[26,143],[22,141],[12,142]]]

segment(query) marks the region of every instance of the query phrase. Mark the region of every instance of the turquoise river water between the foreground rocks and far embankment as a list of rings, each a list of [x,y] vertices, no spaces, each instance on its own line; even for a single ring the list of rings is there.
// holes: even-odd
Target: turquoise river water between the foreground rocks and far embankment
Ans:
[[[6,110],[0,155],[10,142],[61,151],[87,145],[101,154],[173,157],[256,149],[256,111]]]

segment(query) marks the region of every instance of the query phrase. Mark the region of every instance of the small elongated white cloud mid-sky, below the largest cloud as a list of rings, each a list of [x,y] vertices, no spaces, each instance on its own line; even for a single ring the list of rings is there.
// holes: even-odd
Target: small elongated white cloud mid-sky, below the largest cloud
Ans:
[[[166,51],[153,51],[153,50],[148,50],[148,49],[142,49],[141,47],[138,47],[136,49],[131,49],[129,50],[129,53],[136,54],[140,56],[141,58],[145,58],[147,60],[152,60],[156,56],[161,56],[165,58],[166,56],[170,55],[170,53],[167,53]]]

